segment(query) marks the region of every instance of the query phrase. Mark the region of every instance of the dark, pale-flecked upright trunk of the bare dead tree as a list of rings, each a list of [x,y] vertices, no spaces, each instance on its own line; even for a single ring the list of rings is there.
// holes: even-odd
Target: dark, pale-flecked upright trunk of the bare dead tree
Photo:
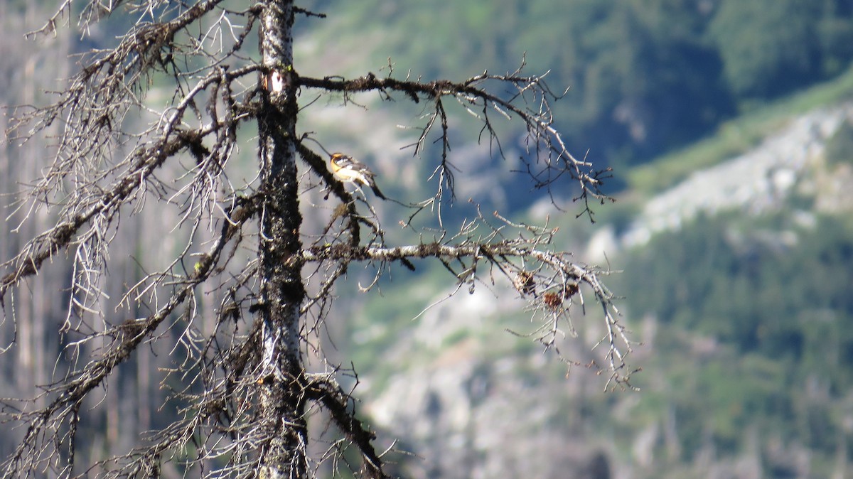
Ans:
[[[302,247],[294,143],[298,108],[293,82],[287,81],[293,72],[293,1],[268,0],[263,9],[259,46],[265,71],[258,115],[263,196],[258,320],[263,321],[263,351],[258,388],[264,440],[259,476],[299,478],[307,473],[307,438],[299,341],[305,286],[302,262],[293,261]]]

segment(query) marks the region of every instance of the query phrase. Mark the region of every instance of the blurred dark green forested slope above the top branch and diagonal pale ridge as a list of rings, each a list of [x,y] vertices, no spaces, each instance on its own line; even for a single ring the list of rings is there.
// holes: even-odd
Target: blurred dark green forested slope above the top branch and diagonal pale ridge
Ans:
[[[466,78],[485,68],[513,71],[525,57],[528,73],[549,71],[554,89],[570,87],[557,120],[572,149],[589,149],[590,159],[618,170],[721,130],[739,111],[833,78],[853,59],[849,0],[316,6],[336,12],[338,25],[322,33],[327,49],[368,55],[374,69],[391,57],[398,75]],[[714,154],[736,153],[756,138],[751,130],[727,135],[731,147]]]

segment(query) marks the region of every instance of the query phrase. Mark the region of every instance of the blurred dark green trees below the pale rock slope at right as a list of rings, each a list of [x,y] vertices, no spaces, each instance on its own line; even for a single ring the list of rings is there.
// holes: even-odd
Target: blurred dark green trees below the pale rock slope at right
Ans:
[[[780,240],[792,235],[795,244]],[[801,228],[781,215],[700,218],[627,258],[617,289],[631,291],[632,316],[659,323],[650,368],[671,383],[641,401],[675,410],[682,459],[708,433],[718,453],[743,451],[750,428],[837,453],[853,361],[851,263],[853,221]],[[697,354],[687,338],[712,347]]]

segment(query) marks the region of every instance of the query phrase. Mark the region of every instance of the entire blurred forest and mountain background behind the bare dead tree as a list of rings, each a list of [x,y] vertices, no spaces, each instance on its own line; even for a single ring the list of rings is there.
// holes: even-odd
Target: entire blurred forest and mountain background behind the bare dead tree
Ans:
[[[554,199],[560,211],[513,172],[524,145],[502,144],[504,161],[478,142],[467,113],[451,112],[460,171],[445,221],[470,215],[473,197],[487,201],[483,211],[559,226],[561,249],[618,271],[609,284],[624,297],[644,371],[639,392],[603,393],[605,380],[583,367],[566,375],[565,364],[505,331],[531,329],[511,288],[439,302],[455,285],[438,269],[395,272],[380,294],[358,292],[370,271],[351,272],[324,348],[355,365],[380,449],[398,439],[417,454],[398,459],[401,475],[853,476],[853,0],[303,6],[328,18],[299,19],[297,71],[462,79],[513,71],[524,59],[526,72],[550,71],[554,89],[569,88],[554,110],[572,152],[614,168],[608,191],[617,202],[596,208],[594,224],[575,219],[571,190]],[[0,2],[3,105],[43,104],[74,71],[74,55],[113,44],[136,20],[116,15],[86,36],[60,29],[25,41],[54,8]],[[149,101],[168,101],[156,91]],[[319,132],[330,151],[376,165],[389,196],[429,196],[433,163],[401,151],[417,132],[397,128],[421,112],[375,96],[359,101],[324,99],[305,109],[301,128]],[[521,127],[501,125],[510,139]],[[38,176],[47,148],[3,144],[4,206]],[[255,148],[247,133],[245,176]],[[126,267],[112,271],[119,284],[138,279],[142,258],[180,244],[148,215],[156,212],[125,219],[138,227],[125,240]],[[0,232],[3,259],[33,233],[15,226],[12,216]],[[3,397],[32,396],[54,374],[41,352],[61,348],[55,332],[72,273],[61,264],[50,272],[16,298],[19,317],[31,320],[0,327],[0,346],[17,340],[0,355]],[[565,355],[589,361],[599,338],[592,324],[577,319],[579,338]],[[122,366],[120,391],[84,412],[93,457],[132,447],[138,438],[125,430],[156,426],[158,390],[168,385],[154,372],[170,361],[151,350]],[[0,435],[0,452],[16,437]]]

